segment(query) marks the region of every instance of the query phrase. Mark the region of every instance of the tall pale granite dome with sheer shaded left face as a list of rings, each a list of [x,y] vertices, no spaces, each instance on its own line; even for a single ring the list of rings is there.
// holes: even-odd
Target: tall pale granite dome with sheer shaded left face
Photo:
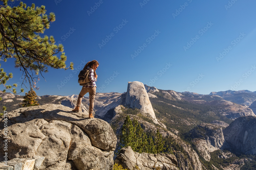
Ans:
[[[127,92],[124,105],[131,108],[138,108],[144,113],[148,113],[153,120],[156,121],[155,112],[152,108],[151,102],[148,98],[147,91],[141,82],[128,82]],[[121,101],[122,103],[122,101]]]

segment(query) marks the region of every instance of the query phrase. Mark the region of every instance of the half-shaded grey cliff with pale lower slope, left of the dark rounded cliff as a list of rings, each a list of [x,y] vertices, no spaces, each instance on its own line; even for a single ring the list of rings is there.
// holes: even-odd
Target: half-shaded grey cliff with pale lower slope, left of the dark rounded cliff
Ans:
[[[220,149],[224,143],[224,136],[220,126],[201,123],[191,130],[191,134],[193,134],[193,142],[200,151],[201,156],[207,161],[211,159],[210,152]]]

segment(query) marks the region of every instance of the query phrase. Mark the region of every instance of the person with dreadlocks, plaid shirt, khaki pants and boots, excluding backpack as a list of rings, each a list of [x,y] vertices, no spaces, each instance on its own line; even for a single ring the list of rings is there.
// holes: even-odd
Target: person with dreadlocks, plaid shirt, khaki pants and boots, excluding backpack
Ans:
[[[91,81],[89,84],[84,85],[82,87],[82,90],[79,93],[79,96],[77,98],[77,104],[76,108],[73,109],[73,112],[79,112],[80,105],[82,102],[82,98],[86,93],[89,93],[89,98],[90,98],[90,104],[89,104],[89,119],[93,118],[93,107],[94,107],[94,99],[95,99],[95,94],[96,94],[96,81],[98,75],[96,74],[95,70],[98,68],[99,63],[96,60],[89,61],[83,68],[84,69],[90,69],[89,73],[89,80]]]

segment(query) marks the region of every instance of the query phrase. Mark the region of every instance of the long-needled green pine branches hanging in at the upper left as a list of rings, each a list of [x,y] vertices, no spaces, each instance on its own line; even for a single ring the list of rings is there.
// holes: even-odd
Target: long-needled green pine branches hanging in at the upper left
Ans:
[[[39,35],[50,27],[50,22],[55,21],[54,13],[46,15],[43,5],[35,7],[32,4],[27,7],[20,2],[17,7],[10,7],[7,6],[8,0],[0,2],[0,60],[6,62],[9,58],[15,58],[15,67],[23,72],[22,85],[25,81],[30,88],[37,88],[35,84],[39,80],[39,73],[42,76],[42,72],[48,72],[48,67],[73,69],[72,62],[66,68],[67,57],[63,53],[63,45],[56,45],[53,36]],[[60,57],[57,56],[59,52],[62,53]],[[0,69],[0,85],[16,93],[15,88],[11,89],[16,84],[5,84],[12,76],[12,73],[7,75]]]

